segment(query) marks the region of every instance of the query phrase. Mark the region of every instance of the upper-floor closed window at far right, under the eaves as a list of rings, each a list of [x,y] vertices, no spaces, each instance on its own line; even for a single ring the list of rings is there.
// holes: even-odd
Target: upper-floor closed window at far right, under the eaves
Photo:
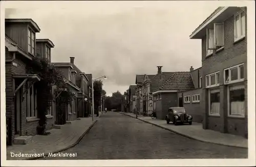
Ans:
[[[245,37],[245,12],[234,15],[234,41]]]

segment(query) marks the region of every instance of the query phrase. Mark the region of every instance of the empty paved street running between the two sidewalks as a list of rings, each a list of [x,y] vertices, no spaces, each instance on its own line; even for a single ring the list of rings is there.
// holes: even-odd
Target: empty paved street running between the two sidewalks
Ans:
[[[247,149],[191,140],[114,112],[102,115],[79,144],[63,153],[77,156],[42,159],[247,158]]]

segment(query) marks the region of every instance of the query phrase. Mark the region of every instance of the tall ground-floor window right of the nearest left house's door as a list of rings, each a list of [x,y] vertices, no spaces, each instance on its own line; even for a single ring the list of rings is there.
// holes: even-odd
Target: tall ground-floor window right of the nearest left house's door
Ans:
[[[27,117],[36,117],[37,95],[36,89],[32,85],[27,91]]]

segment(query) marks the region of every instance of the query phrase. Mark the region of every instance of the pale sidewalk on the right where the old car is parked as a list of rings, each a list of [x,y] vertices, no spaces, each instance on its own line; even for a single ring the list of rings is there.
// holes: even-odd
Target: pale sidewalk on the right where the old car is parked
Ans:
[[[133,113],[119,113],[136,118],[136,115]],[[248,140],[246,138],[233,134],[221,133],[214,130],[203,129],[203,126],[200,123],[193,122],[192,125],[184,124],[175,126],[173,124],[167,124],[165,120],[152,120],[151,117],[143,117],[141,115],[138,116],[138,119],[201,142],[214,143],[231,147],[248,148]]]

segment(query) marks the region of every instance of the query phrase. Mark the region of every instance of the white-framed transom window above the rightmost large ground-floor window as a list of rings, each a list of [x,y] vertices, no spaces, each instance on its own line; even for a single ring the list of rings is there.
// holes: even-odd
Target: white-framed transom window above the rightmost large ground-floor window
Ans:
[[[240,82],[244,80],[244,64],[224,69],[225,84]]]

